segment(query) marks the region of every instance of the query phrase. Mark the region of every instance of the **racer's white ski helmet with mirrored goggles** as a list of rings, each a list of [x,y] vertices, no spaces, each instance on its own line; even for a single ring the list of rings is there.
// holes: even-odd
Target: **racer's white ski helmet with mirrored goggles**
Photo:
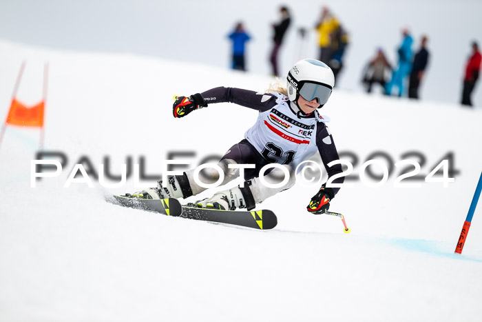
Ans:
[[[331,95],[335,76],[331,68],[316,59],[303,59],[288,72],[288,98],[296,101],[300,95],[306,101],[317,99],[321,108]]]

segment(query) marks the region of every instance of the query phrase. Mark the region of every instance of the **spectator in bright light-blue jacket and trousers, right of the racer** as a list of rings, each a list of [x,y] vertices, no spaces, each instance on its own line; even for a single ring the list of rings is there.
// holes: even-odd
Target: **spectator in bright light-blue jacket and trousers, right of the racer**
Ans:
[[[392,79],[385,85],[385,94],[392,94],[393,86],[397,86],[399,93],[398,96],[401,97],[404,94],[404,80],[410,73],[410,65],[412,61],[412,43],[413,39],[408,32],[408,29],[404,28],[401,30],[404,39],[401,42],[401,46],[398,49],[398,67],[392,74]]]

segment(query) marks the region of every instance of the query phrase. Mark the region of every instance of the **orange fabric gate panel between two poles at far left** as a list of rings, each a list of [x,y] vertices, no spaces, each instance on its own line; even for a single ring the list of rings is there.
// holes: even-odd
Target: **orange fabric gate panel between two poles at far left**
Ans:
[[[36,126],[42,128],[44,108],[44,101],[28,107],[17,101],[17,99],[12,99],[12,105],[10,105],[6,123],[11,125]]]

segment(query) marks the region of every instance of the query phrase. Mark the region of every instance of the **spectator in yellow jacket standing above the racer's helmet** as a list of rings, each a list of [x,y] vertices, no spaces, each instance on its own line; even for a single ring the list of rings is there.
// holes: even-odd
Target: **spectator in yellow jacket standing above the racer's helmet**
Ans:
[[[339,29],[339,22],[333,17],[327,7],[323,7],[322,17],[319,19],[315,29],[319,33],[319,60],[330,66],[330,60],[338,47],[335,33]]]

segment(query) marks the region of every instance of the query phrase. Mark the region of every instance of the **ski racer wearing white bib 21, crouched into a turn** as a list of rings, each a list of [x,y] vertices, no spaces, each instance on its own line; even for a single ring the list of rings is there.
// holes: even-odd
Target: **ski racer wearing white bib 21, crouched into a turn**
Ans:
[[[333,72],[325,63],[315,59],[298,61],[288,73],[287,90],[280,92],[257,93],[239,88],[218,87],[206,92],[193,94],[190,97],[177,97],[173,105],[174,117],[185,117],[187,114],[205,108],[208,102],[231,102],[252,108],[260,112],[256,123],[247,130],[244,139],[233,145],[218,166],[224,172],[222,185],[240,175],[239,168],[229,168],[235,164],[254,164],[255,168],[244,169],[244,187],[217,192],[213,197],[197,202],[198,207],[235,210],[236,208],[255,208],[256,203],[291,188],[295,184],[295,169],[302,161],[307,160],[316,151],[328,172],[328,179],[342,172],[337,164],[328,167],[328,163],[338,158],[325,119],[319,115],[333,90],[335,79]],[[289,181],[280,188],[268,188],[260,181],[260,170],[264,165],[280,163],[289,171]],[[217,170],[206,168],[204,178],[218,181]],[[273,174],[282,170],[274,168]],[[199,194],[206,188],[198,185],[193,179],[194,170],[182,175],[169,177],[167,183],[158,181],[156,188],[149,188],[134,194],[143,199],[187,198]],[[343,183],[343,177],[333,183]],[[203,179],[202,182],[205,182]],[[308,212],[322,214],[329,208],[330,201],[339,188],[319,190],[308,204]]]

